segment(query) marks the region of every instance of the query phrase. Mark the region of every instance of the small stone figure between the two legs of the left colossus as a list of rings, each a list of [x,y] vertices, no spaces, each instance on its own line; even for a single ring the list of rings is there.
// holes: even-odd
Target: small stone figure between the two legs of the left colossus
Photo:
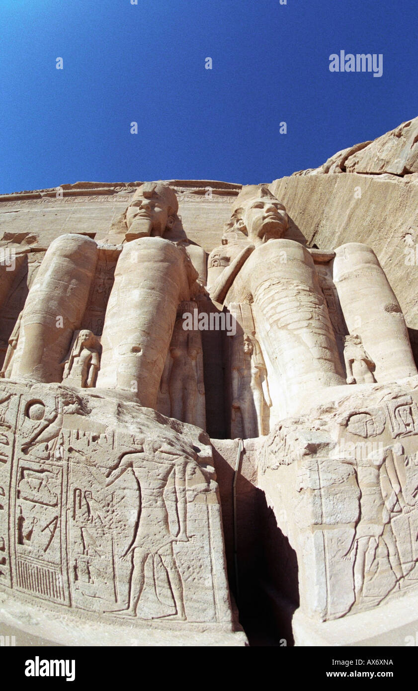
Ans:
[[[81,388],[93,388],[96,385],[97,372],[100,369],[99,340],[87,329],[75,331],[73,342],[64,365],[63,381]]]

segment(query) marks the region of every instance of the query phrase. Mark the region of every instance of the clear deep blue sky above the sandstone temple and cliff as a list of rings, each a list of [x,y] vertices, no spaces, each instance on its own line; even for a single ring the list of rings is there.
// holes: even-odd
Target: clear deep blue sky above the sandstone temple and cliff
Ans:
[[[0,0],[0,27],[0,193],[267,182],[418,115],[417,0]]]

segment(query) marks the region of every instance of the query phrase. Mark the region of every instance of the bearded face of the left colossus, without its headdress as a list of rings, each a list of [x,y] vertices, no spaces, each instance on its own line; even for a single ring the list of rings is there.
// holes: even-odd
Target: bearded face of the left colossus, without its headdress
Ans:
[[[160,236],[164,234],[169,221],[167,202],[157,193],[146,199],[141,194],[137,196],[126,211],[126,225],[132,232],[142,236]]]

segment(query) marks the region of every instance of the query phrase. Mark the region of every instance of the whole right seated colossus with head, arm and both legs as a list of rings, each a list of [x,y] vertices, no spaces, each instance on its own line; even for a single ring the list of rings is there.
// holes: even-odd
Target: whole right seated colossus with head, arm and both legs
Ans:
[[[284,238],[286,229],[285,208],[267,187],[243,188],[225,227],[226,247],[211,252],[208,269],[214,301],[227,308],[233,303],[251,307],[275,420],[311,405],[321,390],[344,386],[347,378],[352,379],[345,370],[353,362],[341,357],[337,342],[341,334],[335,319],[330,319],[314,252]],[[336,250],[332,264],[339,309],[348,329],[357,328],[354,333],[368,348],[370,362],[376,362],[377,381],[415,375],[399,303],[372,250],[344,245]],[[356,292],[358,275],[362,283]],[[353,292],[356,300],[351,298]],[[358,371],[355,364],[354,368]]]

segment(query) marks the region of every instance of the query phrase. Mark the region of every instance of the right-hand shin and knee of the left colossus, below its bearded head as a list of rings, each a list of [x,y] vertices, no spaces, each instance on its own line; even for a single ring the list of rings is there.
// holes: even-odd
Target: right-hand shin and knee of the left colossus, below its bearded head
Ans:
[[[130,390],[155,408],[178,303],[197,277],[184,249],[162,238],[124,245],[102,334],[97,387]]]

